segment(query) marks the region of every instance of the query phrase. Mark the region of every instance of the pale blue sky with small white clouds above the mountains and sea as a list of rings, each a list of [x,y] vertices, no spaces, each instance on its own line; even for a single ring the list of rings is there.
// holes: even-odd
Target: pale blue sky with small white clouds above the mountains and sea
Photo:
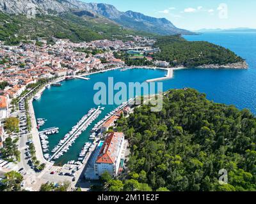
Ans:
[[[81,0],[107,3],[120,11],[138,11],[164,17],[177,27],[202,28],[252,27],[256,29],[255,0]]]

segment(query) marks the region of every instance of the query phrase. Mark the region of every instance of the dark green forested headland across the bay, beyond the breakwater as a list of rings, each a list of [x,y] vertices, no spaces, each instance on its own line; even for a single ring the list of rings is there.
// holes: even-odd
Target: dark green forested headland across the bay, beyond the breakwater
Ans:
[[[155,59],[168,61],[172,66],[195,67],[244,61],[226,48],[206,41],[187,41],[180,35],[161,36],[155,47],[161,48],[161,52],[154,55]]]

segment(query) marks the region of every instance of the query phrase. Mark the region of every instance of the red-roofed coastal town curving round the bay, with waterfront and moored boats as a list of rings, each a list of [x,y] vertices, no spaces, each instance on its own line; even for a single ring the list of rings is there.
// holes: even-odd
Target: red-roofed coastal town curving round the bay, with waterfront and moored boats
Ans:
[[[60,86],[62,80],[89,80],[86,76],[92,73],[116,68],[125,71],[128,67],[136,67],[135,64],[128,66],[119,55],[127,55],[129,60],[134,61],[144,59],[147,68],[168,68],[168,62],[153,60],[152,54],[159,52],[159,48],[153,47],[154,39],[130,37],[133,40],[125,42],[97,40],[73,43],[56,38],[51,41],[38,38],[17,46],[0,42],[0,150],[4,152],[12,143],[19,154],[13,157],[2,153],[1,180],[6,173],[19,171],[24,177],[22,189],[27,191],[38,191],[45,183],[60,185],[63,182],[70,182],[69,190],[81,187],[83,191],[88,191],[91,180],[98,180],[104,171],[113,177],[122,174],[129,143],[124,133],[109,133],[108,130],[115,126],[116,120],[132,112],[134,99],[108,113],[94,128],[90,125],[104,107],[92,108],[51,150],[48,137],[58,133],[59,129],[40,129],[45,119],[35,118],[32,101],[39,99],[45,89]],[[173,69],[166,71],[166,78],[172,78]],[[158,80],[164,80],[164,77]],[[13,130],[10,127],[15,122],[18,128]],[[55,166],[54,161],[68,152],[87,128],[92,129],[90,142],[84,143],[77,161]]]

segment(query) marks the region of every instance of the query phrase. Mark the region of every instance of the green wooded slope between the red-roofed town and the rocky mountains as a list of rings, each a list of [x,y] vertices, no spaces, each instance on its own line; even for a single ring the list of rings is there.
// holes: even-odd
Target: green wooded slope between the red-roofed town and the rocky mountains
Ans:
[[[0,40],[15,45],[21,40],[35,40],[37,37],[66,38],[71,41],[92,41],[100,39],[130,40],[127,35],[153,36],[140,31],[125,29],[111,22],[97,18],[81,18],[72,13],[62,15],[7,15],[0,12]]]

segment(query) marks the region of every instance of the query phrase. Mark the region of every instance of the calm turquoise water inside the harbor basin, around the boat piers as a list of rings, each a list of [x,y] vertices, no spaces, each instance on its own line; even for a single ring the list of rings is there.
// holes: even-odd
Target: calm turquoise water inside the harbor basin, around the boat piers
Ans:
[[[145,82],[145,80],[149,78],[158,78],[164,75],[166,75],[166,71],[163,70],[115,70],[93,74],[88,81],[83,79],[68,80],[61,82],[61,87],[46,89],[38,101],[33,101],[33,106],[36,118],[47,119],[41,129],[51,127],[60,128],[60,133],[49,136],[49,149],[53,149],[88,110],[97,108],[98,105],[95,105],[93,102],[93,96],[97,92],[93,90],[93,86],[97,82],[103,82],[108,85],[108,78],[113,77],[114,84],[116,82],[124,82],[128,86],[129,82]],[[115,91],[114,94],[116,92],[118,91]],[[70,147],[70,150],[60,157],[56,163],[63,164],[67,163],[67,161],[77,159],[84,143],[88,142],[90,130],[95,123],[104,118],[105,115],[115,109],[116,106],[118,105],[104,105],[106,108],[100,114],[99,118],[77,138],[76,143],[74,143],[72,147]]]

